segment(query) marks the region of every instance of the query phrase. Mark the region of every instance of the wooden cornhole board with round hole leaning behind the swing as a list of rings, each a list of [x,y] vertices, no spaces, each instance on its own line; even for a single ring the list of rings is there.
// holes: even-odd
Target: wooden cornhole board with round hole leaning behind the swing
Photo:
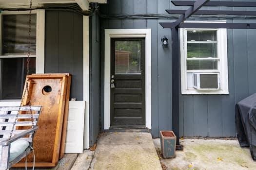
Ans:
[[[39,130],[34,136],[33,146],[36,154],[36,167],[52,167],[59,161],[59,149],[63,125],[63,115],[67,94],[68,74],[33,74],[28,76],[33,81],[31,105],[42,105],[39,116]],[[50,93],[43,93],[45,85],[52,87]],[[46,137],[47,136],[47,137]],[[28,162],[32,162],[32,155]],[[41,163],[43,162],[43,163]],[[24,160],[17,164],[24,166]]]

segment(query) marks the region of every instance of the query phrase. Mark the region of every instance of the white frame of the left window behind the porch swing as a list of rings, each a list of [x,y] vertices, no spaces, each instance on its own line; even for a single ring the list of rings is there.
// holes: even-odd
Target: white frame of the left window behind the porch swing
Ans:
[[[29,14],[29,11],[1,11],[0,13],[0,58],[23,58],[27,55],[1,55],[1,39],[2,39],[2,15],[12,14]],[[36,57],[36,73],[44,73],[44,30],[45,30],[45,10],[38,9],[32,10],[32,14],[37,14],[37,40],[36,40],[36,55],[30,55],[30,57]],[[5,105],[19,105],[20,100],[0,100]]]

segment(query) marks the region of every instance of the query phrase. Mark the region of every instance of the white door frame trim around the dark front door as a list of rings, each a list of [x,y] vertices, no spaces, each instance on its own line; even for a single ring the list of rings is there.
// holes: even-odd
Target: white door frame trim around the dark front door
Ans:
[[[146,128],[151,129],[151,29],[105,29],[104,129],[110,127],[111,38],[145,37],[145,109]]]

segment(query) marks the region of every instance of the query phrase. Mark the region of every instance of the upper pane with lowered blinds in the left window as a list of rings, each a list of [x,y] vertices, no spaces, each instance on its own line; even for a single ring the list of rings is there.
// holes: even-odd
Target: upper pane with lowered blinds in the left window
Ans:
[[[30,52],[36,54],[37,16],[31,17]],[[28,49],[29,15],[2,16],[2,55],[26,55]]]

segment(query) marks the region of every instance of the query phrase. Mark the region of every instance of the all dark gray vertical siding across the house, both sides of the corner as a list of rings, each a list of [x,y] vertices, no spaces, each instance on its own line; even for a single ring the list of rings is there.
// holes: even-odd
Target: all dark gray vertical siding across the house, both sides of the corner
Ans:
[[[170,0],[109,0],[100,5],[106,15],[166,14],[166,9],[174,9]],[[164,35],[171,43],[171,30],[158,24],[163,21],[90,17],[90,145],[104,125],[105,29],[151,29],[152,135],[158,137],[159,130],[172,129],[172,49],[171,44],[161,46]],[[45,72],[72,73],[71,98],[79,101],[83,100],[82,22],[77,13],[46,10]],[[255,30],[228,30],[229,95],[180,94],[180,136],[236,136],[235,103],[256,93],[255,34]]]

